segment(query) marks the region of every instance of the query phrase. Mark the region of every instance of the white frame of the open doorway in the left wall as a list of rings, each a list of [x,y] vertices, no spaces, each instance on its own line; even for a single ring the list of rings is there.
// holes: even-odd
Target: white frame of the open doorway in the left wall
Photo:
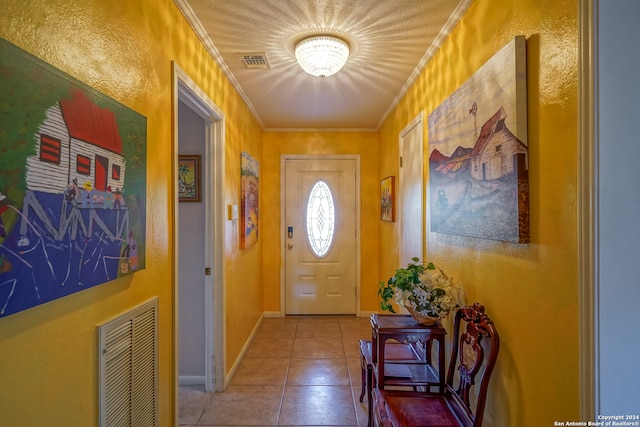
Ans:
[[[202,179],[210,189],[203,194],[205,203],[205,266],[212,268],[212,274],[205,276],[205,389],[224,391],[225,389],[225,306],[224,283],[224,129],[225,118],[222,111],[209,99],[207,94],[176,64],[173,63],[173,349],[174,376],[176,384],[176,405],[178,402],[178,100],[183,101],[205,121],[205,156]],[[204,272],[203,272],[204,274]],[[177,425],[177,408],[176,408]]]

